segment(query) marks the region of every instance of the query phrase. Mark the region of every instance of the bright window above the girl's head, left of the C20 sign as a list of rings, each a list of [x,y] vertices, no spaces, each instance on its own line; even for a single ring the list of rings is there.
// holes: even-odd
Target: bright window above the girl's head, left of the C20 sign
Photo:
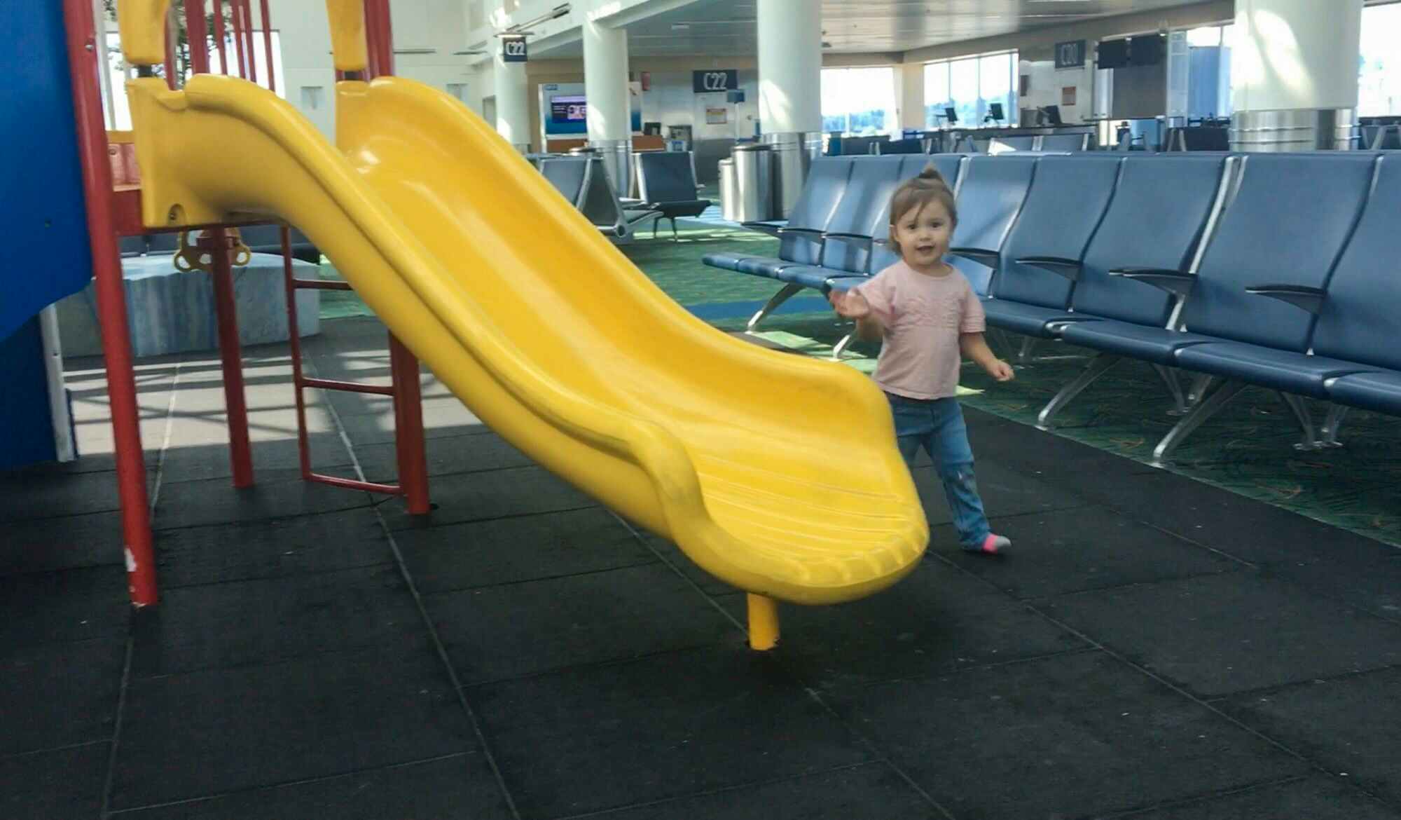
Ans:
[[[1017,52],[996,52],[925,64],[925,125],[944,125],[953,108],[958,125],[976,128],[1002,105],[1002,125],[1017,122]]]

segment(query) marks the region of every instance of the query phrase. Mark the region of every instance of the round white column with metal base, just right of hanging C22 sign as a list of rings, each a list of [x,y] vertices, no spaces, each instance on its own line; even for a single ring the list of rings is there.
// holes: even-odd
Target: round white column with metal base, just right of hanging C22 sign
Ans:
[[[822,6],[759,0],[759,128],[773,150],[773,216],[793,210],[822,146]]]

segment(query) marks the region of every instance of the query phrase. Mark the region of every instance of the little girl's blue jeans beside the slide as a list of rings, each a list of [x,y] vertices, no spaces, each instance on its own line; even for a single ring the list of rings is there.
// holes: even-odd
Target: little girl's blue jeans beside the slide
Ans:
[[[962,409],[957,398],[936,398],[929,401],[885,394],[891,414],[895,416],[895,440],[905,464],[915,465],[915,457],[923,447],[939,471],[944,485],[948,510],[954,516],[958,542],[964,549],[982,549],[982,542],[992,530],[988,516],[982,512],[978,498],[978,484],[972,474],[972,447],[968,446],[968,428],[962,421]]]

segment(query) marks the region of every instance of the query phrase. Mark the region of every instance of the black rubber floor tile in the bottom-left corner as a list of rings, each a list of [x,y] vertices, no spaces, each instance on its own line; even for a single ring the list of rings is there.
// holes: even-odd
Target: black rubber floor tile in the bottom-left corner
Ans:
[[[0,757],[0,817],[74,820],[102,812],[106,743]]]

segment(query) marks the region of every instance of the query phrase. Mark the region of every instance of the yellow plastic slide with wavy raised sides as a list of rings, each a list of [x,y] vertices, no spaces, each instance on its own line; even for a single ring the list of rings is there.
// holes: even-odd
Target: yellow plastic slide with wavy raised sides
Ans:
[[[296,224],[474,414],[716,578],[835,603],[919,561],[870,380],[692,317],[453,97],[343,81],[338,150],[244,80],[127,91],[149,226]]]

